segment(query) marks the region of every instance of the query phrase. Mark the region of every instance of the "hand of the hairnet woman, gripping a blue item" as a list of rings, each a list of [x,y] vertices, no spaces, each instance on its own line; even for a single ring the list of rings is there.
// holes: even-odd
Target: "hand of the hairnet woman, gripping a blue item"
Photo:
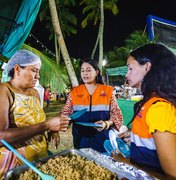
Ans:
[[[49,131],[63,131],[68,128],[70,118],[67,116],[53,117],[46,121],[46,126]]]

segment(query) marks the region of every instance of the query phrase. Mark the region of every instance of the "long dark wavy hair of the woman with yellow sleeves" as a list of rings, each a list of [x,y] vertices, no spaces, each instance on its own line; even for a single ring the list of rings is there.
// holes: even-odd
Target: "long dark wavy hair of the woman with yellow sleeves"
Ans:
[[[134,117],[153,94],[167,99],[176,106],[175,54],[162,44],[151,43],[133,50],[130,56],[141,65],[151,63],[151,69],[145,75],[141,85],[144,98],[135,104]]]

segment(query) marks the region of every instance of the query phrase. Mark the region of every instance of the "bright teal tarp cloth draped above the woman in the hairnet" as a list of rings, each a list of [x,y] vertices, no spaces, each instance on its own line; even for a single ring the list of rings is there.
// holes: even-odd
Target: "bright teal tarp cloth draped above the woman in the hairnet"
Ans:
[[[11,27],[12,31],[4,35],[4,40],[0,44],[1,55],[10,58],[21,47],[35,22],[41,2],[42,0],[22,1],[14,19],[15,24]],[[14,28],[14,26],[16,27]]]

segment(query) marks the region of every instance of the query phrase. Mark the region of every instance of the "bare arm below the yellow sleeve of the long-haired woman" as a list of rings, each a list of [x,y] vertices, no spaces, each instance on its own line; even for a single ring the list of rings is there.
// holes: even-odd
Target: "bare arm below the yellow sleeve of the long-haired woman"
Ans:
[[[176,134],[156,131],[153,133],[153,138],[167,179],[176,179]]]

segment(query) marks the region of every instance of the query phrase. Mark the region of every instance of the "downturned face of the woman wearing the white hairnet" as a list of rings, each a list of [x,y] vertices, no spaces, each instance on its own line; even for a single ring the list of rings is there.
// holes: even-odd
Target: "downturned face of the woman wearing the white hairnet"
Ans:
[[[19,77],[24,87],[31,88],[35,86],[37,80],[40,78],[40,68],[41,64],[35,64],[19,69]]]

